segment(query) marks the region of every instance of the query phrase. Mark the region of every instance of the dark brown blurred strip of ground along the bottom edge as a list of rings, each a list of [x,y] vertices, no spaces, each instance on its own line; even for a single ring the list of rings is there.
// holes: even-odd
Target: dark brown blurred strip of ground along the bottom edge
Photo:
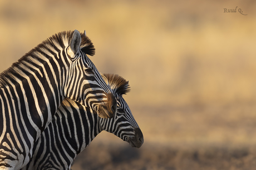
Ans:
[[[147,144],[138,150],[99,143],[82,152],[72,169],[254,169],[255,151],[254,147],[180,148]]]

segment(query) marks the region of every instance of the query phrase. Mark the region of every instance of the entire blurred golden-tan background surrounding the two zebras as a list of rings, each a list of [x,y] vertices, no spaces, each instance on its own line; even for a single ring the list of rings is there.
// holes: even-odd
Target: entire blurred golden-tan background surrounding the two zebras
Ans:
[[[102,132],[73,170],[254,169],[255,8],[254,1],[2,0],[0,71],[55,33],[86,30],[97,69],[129,80],[124,98],[144,145]]]

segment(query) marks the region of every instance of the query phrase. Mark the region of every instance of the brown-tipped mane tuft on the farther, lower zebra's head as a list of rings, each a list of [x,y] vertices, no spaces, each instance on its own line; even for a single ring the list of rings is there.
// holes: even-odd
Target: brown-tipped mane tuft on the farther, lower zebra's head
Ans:
[[[114,93],[118,95],[125,95],[127,92],[130,92],[129,81],[126,81],[124,78],[117,74],[104,74],[107,78],[107,84],[113,90]]]

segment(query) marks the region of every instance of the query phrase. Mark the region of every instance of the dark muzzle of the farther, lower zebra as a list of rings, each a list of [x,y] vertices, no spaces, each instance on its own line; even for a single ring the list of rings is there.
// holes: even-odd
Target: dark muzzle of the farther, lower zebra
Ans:
[[[127,142],[130,143],[131,147],[140,148],[144,143],[144,137],[139,127],[134,128],[134,136],[130,136]]]

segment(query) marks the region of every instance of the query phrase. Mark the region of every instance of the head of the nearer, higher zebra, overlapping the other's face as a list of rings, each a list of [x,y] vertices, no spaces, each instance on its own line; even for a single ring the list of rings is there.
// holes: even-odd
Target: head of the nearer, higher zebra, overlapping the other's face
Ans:
[[[116,112],[116,99],[86,55],[95,54],[91,40],[85,32],[75,30],[65,50],[70,59],[64,87],[65,97],[89,107],[102,118],[112,118]]]

